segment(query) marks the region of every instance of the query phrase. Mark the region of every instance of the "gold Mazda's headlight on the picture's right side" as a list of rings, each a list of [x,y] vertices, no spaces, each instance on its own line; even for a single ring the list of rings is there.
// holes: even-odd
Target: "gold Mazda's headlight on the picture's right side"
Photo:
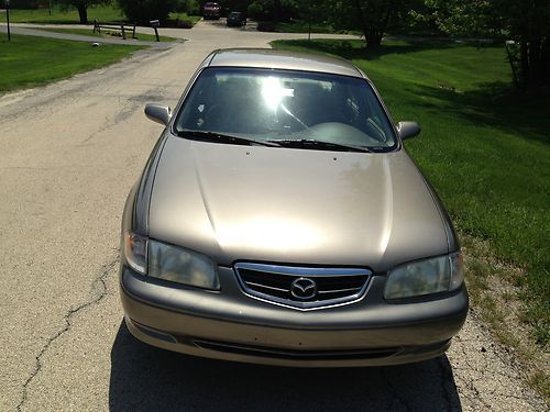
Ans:
[[[464,280],[459,253],[413,261],[389,271],[385,299],[411,298],[457,290]]]

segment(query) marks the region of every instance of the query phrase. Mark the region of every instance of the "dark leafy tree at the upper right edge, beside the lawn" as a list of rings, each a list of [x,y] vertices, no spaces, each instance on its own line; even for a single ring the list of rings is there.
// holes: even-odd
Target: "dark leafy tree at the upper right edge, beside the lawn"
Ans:
[[[506,41],[518,86],[550,87],[550,4],[548,0],[426,0],[429,16],[447,33]]]

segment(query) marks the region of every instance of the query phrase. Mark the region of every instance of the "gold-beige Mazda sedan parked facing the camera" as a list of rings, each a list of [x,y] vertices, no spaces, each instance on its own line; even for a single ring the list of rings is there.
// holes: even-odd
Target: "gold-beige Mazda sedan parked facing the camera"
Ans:
[[[466,316],[457,236],[352,64],[226,49],[164,124],[122,222],[130,332],[189,355],[284,366],[419,361]]]

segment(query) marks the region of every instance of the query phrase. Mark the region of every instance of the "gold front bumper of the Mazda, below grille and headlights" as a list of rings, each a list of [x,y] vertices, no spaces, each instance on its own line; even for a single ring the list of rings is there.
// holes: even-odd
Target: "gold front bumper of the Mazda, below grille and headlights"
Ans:
[[[280,366],[378,366],[437,357],[464,323],[468,293],[388,303],[385,278],[364,298],[302,312],[245,296],[231,268],[221,291],[174,286],[121,267],[121,300],[130,332],[166,349]]]

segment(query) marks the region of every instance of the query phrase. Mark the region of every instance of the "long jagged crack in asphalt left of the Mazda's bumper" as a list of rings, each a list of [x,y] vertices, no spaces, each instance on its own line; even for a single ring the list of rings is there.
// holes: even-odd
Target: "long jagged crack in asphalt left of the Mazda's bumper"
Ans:
[[[96,279],[94,279],[94,281],[91,282],[91,293],[90,294],[92,297],[95,296],[95,298],[88,300],[85,303],[79,304],[76,308],[69,309],[67,311],[67,313],[65,313],[65,315],[63,316],[63,320],[65,321],[65,326],[61,331],[55,333],[53,336],[51,336],[47,339],[47,342],[44,344],[42,349],[40,350],[38,355],[36,355],[36,363],[34,366],[34,370],[31,372],[31,376],[23,383],[23,393],[21,396],[21,401],[19,402],[19,404],[16,407],[16,411],[21,411],[24,403],[29,399],[29,385],[31,385],[33,379],[42,370],[42,367],[43,367],[42,357],[44,356],[44,354],[47,352],[47,349],[52,346],[52,344],[56,339],[58,339],[66,332],[70,331],[70,329],[73,327],[73,323],[72,323],[73,316],[76,315],[81,310],[84,310],[92,304],[99,303],[107,296],[108,290],[107,290],[106,279],[107,279],[107,276],[111,272],[111,270],[117,266],[118,263],[119,263],[119,255],[117,254],[116,257],[110,259],[110,261],[108,264],[106,264],[101,267],[100,275]]]

